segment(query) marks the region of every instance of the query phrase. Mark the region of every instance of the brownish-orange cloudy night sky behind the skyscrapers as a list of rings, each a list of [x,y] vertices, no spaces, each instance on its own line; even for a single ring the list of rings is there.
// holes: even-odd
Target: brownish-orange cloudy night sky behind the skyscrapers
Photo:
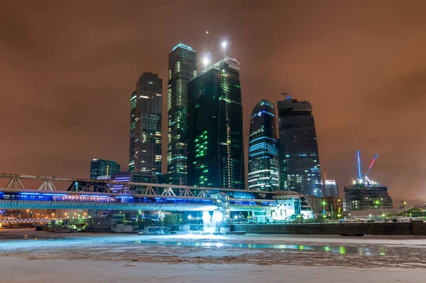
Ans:
[[[0,172],[88,178],[94,157],[127,169],[138,76],[163,78],[166,113],[168,53],[182,42],[221,59],[210,31],[241,63],[246,144],[254,105],[276,105],[294,73],[327,178],[342,191],[356,150],[364,169],[378,152],[373,180],[394,199],[426,199],[425,11],[426,1],[4,1]]]

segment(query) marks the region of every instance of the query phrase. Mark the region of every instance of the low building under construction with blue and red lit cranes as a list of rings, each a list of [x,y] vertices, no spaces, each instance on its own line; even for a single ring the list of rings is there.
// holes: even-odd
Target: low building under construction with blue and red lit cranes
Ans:
[[[376,158],[377,154],[371,161],[367,173],[362,175],[358,151],[358,178],[352,180],[351,186],[344,188],[347,210],[392,208],[392,198],[388,195],[388,188],[368,178]]]

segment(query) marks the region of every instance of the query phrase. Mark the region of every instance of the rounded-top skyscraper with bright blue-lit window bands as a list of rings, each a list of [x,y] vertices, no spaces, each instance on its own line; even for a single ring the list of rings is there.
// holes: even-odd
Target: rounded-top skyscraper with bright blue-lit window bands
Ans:
[[[261,100],[251,112],[249,136],[249,190],[279,189],[275,107]]]

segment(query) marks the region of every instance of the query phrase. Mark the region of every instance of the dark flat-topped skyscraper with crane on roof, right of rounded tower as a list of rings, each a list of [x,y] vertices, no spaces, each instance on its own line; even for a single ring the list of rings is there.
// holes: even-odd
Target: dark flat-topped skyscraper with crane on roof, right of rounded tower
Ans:
[[[307,101],[278,101],[280,187],[322,196],[320,156],[312,106]]]

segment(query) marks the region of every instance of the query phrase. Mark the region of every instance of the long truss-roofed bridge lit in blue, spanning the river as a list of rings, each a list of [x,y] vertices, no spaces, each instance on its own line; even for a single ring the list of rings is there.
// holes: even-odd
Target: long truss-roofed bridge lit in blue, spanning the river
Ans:
[[[0,173],[0,178],[10,179],[5,188],[0,188],[0,208],[6,209],[220,210],[224,215],[229,215],[229,211],[268,214],[279,205],[275,196],[283,195],[283,192],[6,173]],[[23,186],[25,179],[42,183],[38,189],[28,190]],[[67,191],[58,191],[54,181],[71,184]],[[304,198],[298,194],[296,197]],[[310,209],[309,204],[305,206]]]

